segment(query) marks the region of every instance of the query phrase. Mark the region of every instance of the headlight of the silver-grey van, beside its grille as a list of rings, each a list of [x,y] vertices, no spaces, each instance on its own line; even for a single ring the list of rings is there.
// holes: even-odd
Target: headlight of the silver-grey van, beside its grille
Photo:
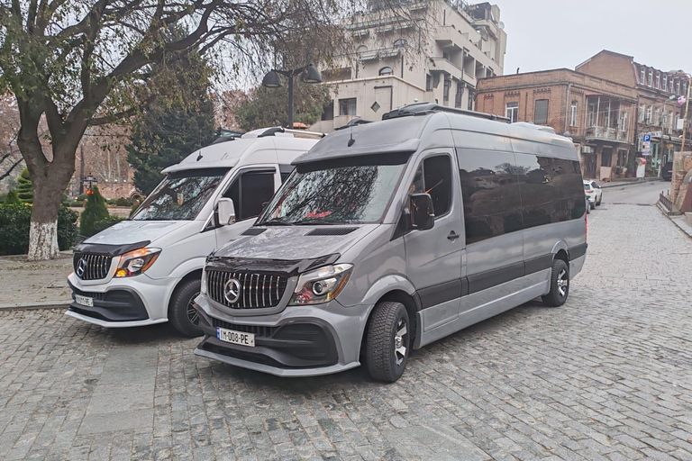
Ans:
[[[298,277],[296,292],[288,305],[321,304],[332,301],[351,276],[352,264],[320,267]]]

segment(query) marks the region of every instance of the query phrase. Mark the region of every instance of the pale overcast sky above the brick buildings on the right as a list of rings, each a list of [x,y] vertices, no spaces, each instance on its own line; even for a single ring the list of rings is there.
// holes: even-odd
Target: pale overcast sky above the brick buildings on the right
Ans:
[[[469,2],[478,3],[478,0]],[[600,50],[692,73],[691,0],[495,0],[507,32],[505,74],[575,68]]]

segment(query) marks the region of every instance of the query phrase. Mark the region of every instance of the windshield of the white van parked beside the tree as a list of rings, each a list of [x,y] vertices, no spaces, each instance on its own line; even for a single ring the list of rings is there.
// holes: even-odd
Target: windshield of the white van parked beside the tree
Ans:
[[[132,216],[134,221],[192,221],[214,194],[228,168],[171,173]]]

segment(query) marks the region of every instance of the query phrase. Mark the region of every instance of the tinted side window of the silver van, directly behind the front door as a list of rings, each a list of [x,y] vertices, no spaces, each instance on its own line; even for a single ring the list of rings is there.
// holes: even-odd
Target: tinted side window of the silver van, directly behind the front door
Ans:
[[[457,149],[466,243],[522,229],[514,154]]]

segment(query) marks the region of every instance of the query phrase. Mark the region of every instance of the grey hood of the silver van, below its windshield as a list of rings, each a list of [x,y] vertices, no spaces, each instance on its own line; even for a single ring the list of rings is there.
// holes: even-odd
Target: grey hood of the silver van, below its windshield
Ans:
[[[215,258],[298,260],[343,254],[379,224],[251,227]],[[258,235],[249,235],[256,233]]]

